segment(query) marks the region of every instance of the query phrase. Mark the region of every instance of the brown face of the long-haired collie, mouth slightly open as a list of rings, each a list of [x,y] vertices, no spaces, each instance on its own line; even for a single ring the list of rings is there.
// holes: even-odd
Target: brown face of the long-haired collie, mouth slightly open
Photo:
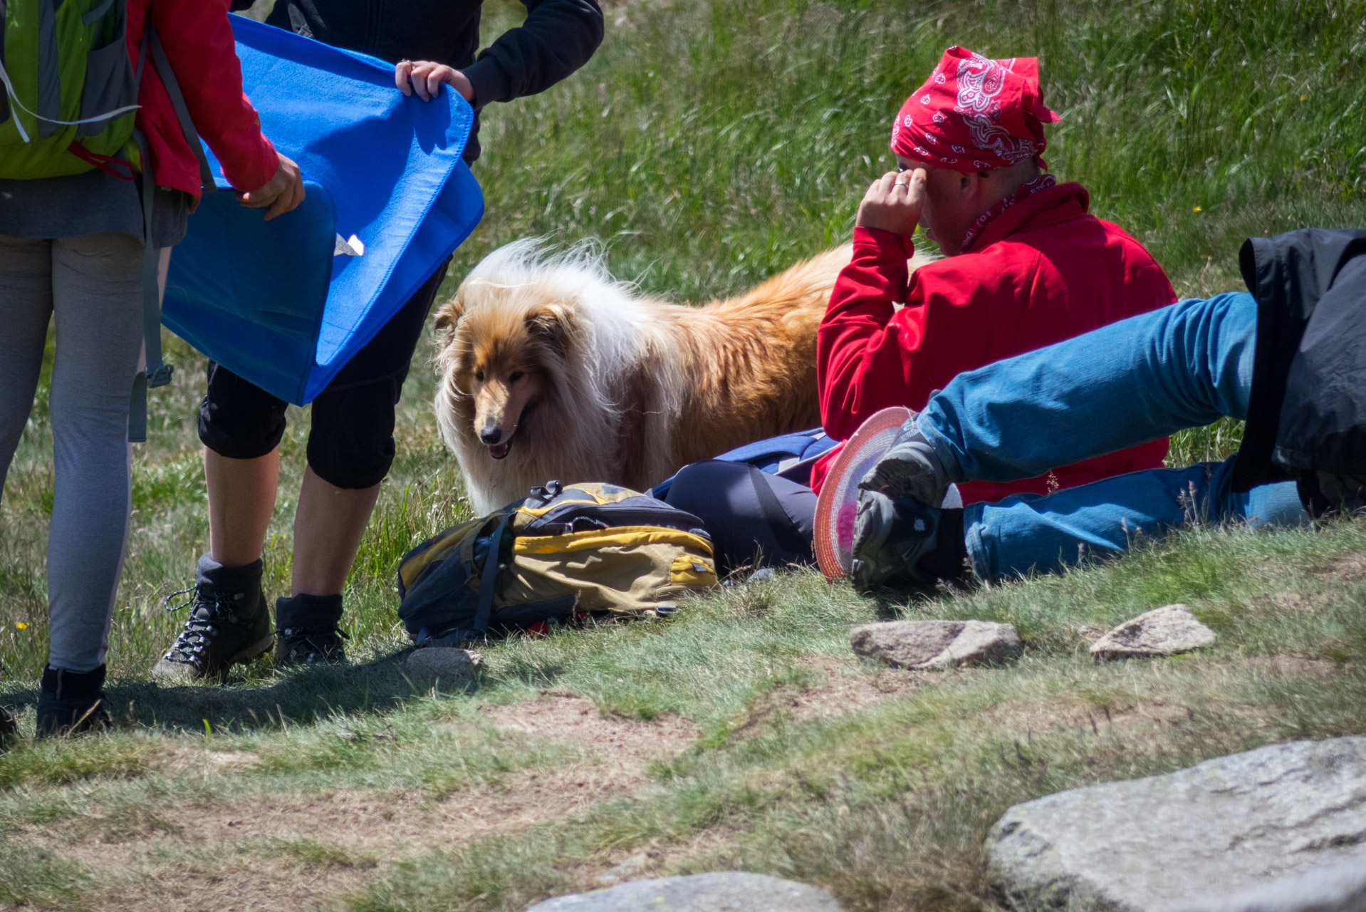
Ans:
[[[490,457],[504,459],[533,433],[531,414],[564,361],[568,314],[555,305],[510,308],[505,299],[490,305],[471,297],[462,287],[437,316],[447,335],[438,361],[470,432]]]

